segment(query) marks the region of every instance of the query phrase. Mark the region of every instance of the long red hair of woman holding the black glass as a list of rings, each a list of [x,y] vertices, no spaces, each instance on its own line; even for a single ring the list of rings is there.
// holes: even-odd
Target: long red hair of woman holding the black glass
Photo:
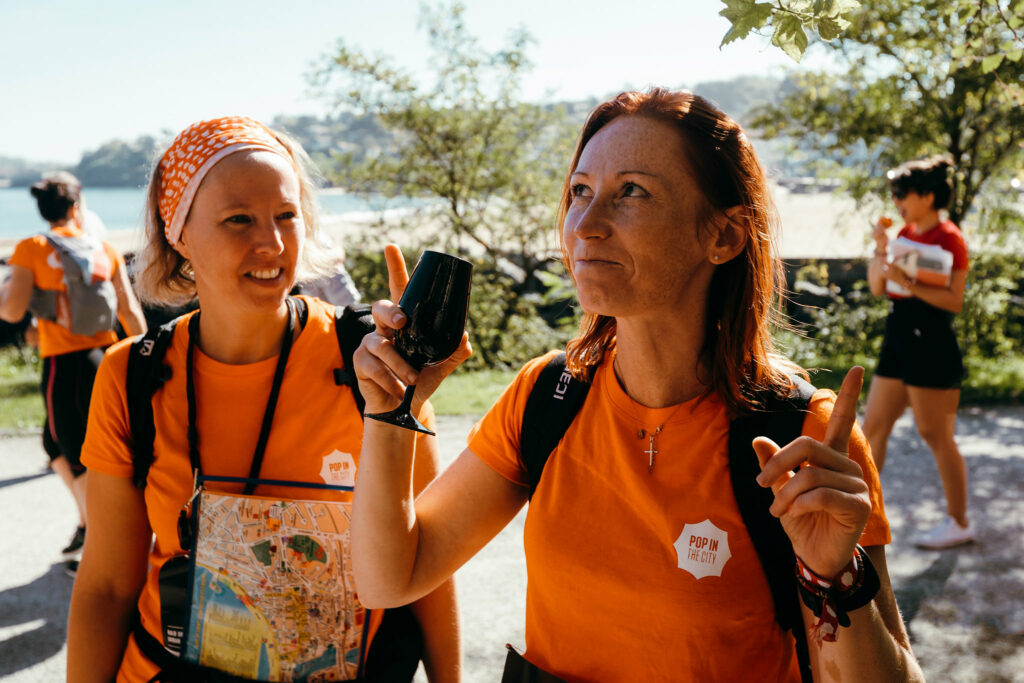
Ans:
[[[701,365],[709,373],[708,393],[717,393],[734,415],[757,408],[755,392],[786,393],[786,372],[800,372],[775,352],[772,325],[780,324],[777,301],[785,286],[777,257],[778,212],[761,163],[739,124],[709,100],[691,92],[652,88],[624,92],[599,104],[584,125],[558,205],[559,234],[571,203],[570,177],[587,142],[621,116],[642,116],[675,126],[683,136],[687,164],[702,195],[698,229],[716,215],[741,207],[746,246],[715,268],[708,295]],[[568,254],[562,241],[566,269]],[[615,318],[584,312],[580,334],[566,345],[568,369],[578,378],[591,374],[614,344]]]

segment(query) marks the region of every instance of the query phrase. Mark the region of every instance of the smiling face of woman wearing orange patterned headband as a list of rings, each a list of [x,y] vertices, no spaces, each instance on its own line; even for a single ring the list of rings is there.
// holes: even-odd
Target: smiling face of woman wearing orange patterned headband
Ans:
[[[299,178],[289,160],[238,152],[203,179],[179,250],[200,301],[241,310],[278,308],[295,282],[305,239]]]

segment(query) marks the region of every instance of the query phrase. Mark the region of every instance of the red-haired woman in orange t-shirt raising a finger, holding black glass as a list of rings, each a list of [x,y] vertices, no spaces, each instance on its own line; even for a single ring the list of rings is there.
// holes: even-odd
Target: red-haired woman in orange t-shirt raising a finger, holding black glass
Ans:
[[[524,656],[551,677],[530,680],[801,680],[726,455],[730,420],[758,408],[752,394],[786,395],[787,372],[800,372],[773,351],[777,217],[750,140],[692,93],[622,93],[585,124],[559,217],[584,310],[566,348],[567,372],[591,382],[582,409],[531,498],[523,411],[550,355],[523,368],[415,503],[411,432],[368,423],[353,515],[362,599],[384,606],[432,590],[529,500]],[[398,297],[400,253],[385,254]],[[417,373],[391,342],[401,309],[380,301],[374,317],[354,358],[368,413],[394,408],[409,383],[423,400],[469,355],[467,339]],[[838,397],[815,393],[803,437],[754,439],[753,476],[774,494],[768,510],[802,592],[829,591],[828,609],[852,605],[868,585],[865,556],[877,569],[848,624],[820,602],[801,607],[821,636],[814,679],[920,680],[886,570],[878,472],[855,427],[861,379],[857,368]]]

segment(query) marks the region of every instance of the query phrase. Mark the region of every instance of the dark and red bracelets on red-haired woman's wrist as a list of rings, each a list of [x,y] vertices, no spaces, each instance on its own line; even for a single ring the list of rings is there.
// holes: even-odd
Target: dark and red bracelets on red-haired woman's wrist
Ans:
[[[818,617],[810,636],[820,647],[822,642],[836,642],[839,627],[850,626],[849,612],[870,602],[881,583],[867,553],[857,546],[849,564],[830,581],[811,571],[798,556],[797,587],[800,599]]]

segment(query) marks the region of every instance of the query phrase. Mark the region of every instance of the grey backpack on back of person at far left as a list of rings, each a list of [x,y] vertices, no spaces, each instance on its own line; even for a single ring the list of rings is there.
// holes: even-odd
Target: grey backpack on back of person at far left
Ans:
[[[53,232],[44,236],[60,258],[67,292],[32,292],[29,309],[44,321],[57,323],[72,334],[92,336],[114,329],[118,313],[118,294],[111,278],[111,262],[102,243],[87,237],[65,237]]]

